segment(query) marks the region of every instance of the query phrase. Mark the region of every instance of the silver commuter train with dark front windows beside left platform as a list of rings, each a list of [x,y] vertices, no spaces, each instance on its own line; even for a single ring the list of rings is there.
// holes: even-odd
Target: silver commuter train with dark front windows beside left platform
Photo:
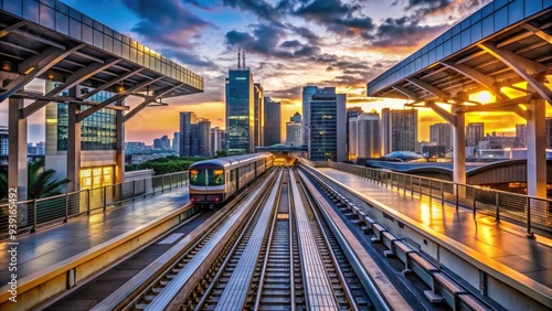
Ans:
[[[199,161],[190,165],[190,201],[216,205],[226,201],[253,179],[268,170],[272,153],[253,153]]]

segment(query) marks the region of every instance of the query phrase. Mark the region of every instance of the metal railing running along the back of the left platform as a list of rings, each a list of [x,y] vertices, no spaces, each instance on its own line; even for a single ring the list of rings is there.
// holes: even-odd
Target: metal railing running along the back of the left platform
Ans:
[[[0,240],[9,238],[17,218],[17,233],[35,232],[41,226],[66,223],[70,218],[105,212],[125,201],[156,195],[188,185],[188,171],[132,180],[103,187],[0,205]],[[17,212],[15,212],[17,211]],[[11,213],[11,214],[10,214]],[[11,217],[10,217],[11,215]]]

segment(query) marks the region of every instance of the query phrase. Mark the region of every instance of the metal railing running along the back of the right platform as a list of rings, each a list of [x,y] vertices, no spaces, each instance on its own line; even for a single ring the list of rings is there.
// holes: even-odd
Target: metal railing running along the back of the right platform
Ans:
[[[314,168],[332,168],[373,181],[403,194],[418,194],[428,200],[439,200],[442,204],[469,208],[477,213],[523,224],[528,237],[533,236],[533,227],[552,232],[552,200],[523,195],[477,185],[459,184],[438,179],[422,178],[389,170],[371,169],[338,162],[301,162]]]

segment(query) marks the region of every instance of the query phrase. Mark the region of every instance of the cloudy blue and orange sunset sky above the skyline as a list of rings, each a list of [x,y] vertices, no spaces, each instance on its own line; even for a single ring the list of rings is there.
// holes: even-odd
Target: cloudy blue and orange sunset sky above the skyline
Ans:
[[[237,49],[265,96],[282,100],[282,120],[301,111],[305,85],[336,86],[348,107],[402,108],[404,100],[367,98],[365,84],[490,0],[62,0],[184,65],[205,79],[205,92],[168,99],[126,125],[126,141],[178,131],[179,111],[194,111],[224,128],[224,78]],[[29,88],[41,89],[43,82]],[[43,89],[42,89],[43,90]],[[129,99],[132,106],[139,99]],[[7,125],[8,105],[0,105]],[[551,114],[550,105],[546,107]],[[444,121],[418,112],[418,140]],[[44,111],[29,120],[30,141],[44,140]],[[486,131],[514,131],[514,114],[470,114]],[[283,136],[285,129],[283,124]],[[284,138],[284,137],[283,137]]]

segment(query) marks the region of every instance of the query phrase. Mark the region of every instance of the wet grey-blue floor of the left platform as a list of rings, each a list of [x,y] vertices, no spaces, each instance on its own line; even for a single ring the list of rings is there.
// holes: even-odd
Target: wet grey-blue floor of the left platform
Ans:
[[[187,204],[188,187],[125,202],[120,207],[71,219],[33,234],[20,235],[18,245],[18,279],[40,271],[102,243],[108,242],[140,225],[155,221]],[[9,281],[10,255],[8,242],[0,243],[0,283]]]

